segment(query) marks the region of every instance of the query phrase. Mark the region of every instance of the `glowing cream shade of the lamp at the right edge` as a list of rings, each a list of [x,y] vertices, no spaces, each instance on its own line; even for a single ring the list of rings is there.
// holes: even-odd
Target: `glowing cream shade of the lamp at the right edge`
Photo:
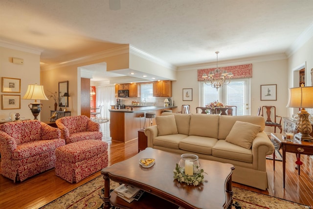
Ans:
[[[313,87],[290,88],[287,107],[313,108]]]

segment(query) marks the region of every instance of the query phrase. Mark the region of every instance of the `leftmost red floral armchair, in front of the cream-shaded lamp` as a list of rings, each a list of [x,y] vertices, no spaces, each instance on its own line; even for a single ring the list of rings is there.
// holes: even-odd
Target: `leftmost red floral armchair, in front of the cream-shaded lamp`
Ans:
[[[24,181],[55,166],[55,149],[65,145],[61,131],[39,120],[0,125],[1,174]]]

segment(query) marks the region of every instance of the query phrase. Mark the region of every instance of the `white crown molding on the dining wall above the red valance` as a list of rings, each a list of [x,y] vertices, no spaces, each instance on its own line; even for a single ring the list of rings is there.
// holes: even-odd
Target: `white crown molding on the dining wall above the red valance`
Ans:
[[[245,58],[240,58],[240,59],[219,61],[219,67],[245,65],[245,64],[250,64],[250,63],[268,62],[268,61],[284,60],[284,59],[287,59],[287,56],[285,53],[245,57]],[[207,68],[214,68],[214,67],[216,67],[216,62],[210,62],[210,63],[201,63],[201,64],[195,64],[195,65],[189,65],[189,66],[181,66],[178,68],[178,71],[200,70],[200,69],[207,69]]]

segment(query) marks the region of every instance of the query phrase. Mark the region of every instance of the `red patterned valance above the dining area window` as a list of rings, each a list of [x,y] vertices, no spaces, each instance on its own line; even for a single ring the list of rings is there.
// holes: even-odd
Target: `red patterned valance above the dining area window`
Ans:
[[[203,81],[202,75],[203,73],[209,74],[210,71],[215,70],[216,68],[209,68],[209,69],[201,69],[198,70],[198,81]],[[237,66],[228,66],[219,68],[220,70],[226,70],[227,72],[232,72],[234,78],[251,78],[252,77],[252,64],[247,65],[237,65]]]

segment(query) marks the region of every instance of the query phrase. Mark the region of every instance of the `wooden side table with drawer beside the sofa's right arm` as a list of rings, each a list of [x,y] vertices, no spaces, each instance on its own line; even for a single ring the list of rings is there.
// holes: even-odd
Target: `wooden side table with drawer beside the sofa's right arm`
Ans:
[[[286,141],[283,134],[270,134],[273,139],[281,144],[283,150],[283,187],[285,188],[285,170],[286,170],[286,152],[295,153],[297,158],[300,155],[313,155],[313,143],[308,141],[299,141],[293,139],[293,141]],[[300,165],[298,165],[298,175],[300,175]]]

